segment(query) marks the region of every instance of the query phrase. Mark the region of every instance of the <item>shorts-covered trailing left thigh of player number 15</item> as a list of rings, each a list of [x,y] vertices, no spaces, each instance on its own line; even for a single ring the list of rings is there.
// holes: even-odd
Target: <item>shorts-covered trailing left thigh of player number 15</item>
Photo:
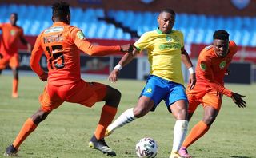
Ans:
[[[51,112],[53,109],[58,108],[64,102],[60,97],[58,97],[58,87],[46,85],[43,93],[39,96],[39,102],[41,104],[41,109],[44,112]]]

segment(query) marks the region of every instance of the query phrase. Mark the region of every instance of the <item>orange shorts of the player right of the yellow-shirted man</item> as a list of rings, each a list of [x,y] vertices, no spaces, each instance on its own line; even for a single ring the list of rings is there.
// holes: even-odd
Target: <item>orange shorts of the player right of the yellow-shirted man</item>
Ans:
[[[189,85],[188,85],[189,87]],[[206,87],[205,83],[202,85],[197,83],[194,89],[186,89],[186,95],[189,100],[189,113],[194,113],[198,105],[202,104],[203,107],[211,106],[218,111],[222,105],[222,93],[218,93],[215,89]]]

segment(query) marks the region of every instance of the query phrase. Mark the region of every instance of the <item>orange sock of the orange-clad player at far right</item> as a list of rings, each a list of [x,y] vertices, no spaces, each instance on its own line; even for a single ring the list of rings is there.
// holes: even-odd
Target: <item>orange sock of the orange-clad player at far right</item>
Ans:
[[[191,129],[190,134],[184,140],[182,147],[188,148],[190,144],[193,144],[196,140],[198,140],[201,136],[203,136],[209,129],[202,120],[198,122],[198,124],[194,125],[194,128]]]

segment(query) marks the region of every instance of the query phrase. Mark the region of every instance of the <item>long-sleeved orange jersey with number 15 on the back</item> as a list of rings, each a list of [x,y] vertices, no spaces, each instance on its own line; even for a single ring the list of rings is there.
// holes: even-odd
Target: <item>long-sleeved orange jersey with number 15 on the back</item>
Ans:
[[[53,26],[38,35],[31,54],[30,66],[38,76],[44,72],[39,65],[42,52],[47,57],[48,81],[51,85],[66,85],[80,80],[80,51],[102,56],[121,51],[120,46],[91,45],[78,27],[65,22]]]

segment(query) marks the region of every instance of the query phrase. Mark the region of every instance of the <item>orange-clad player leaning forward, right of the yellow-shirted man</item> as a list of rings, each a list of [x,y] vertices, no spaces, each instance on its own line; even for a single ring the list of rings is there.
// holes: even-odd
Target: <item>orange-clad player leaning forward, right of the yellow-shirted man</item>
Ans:
[[[245,96],[226,89],[223,81],[237,50],[234,41],[229,41],[229,34],[225,30],[217,30],[214,32],[213,45],[207,46],[200,53],[196,67],[197,84],[194,89],[187,89],[186,94],[189,100],[189,120],[200,104],[204,108],[204,116],[184,140],[179,151],[182,157],[191,157],[187,148],[209,130],[221,109],[223,94],[232,98],[239,108],[246,107],[246,101],[242,99]]]

